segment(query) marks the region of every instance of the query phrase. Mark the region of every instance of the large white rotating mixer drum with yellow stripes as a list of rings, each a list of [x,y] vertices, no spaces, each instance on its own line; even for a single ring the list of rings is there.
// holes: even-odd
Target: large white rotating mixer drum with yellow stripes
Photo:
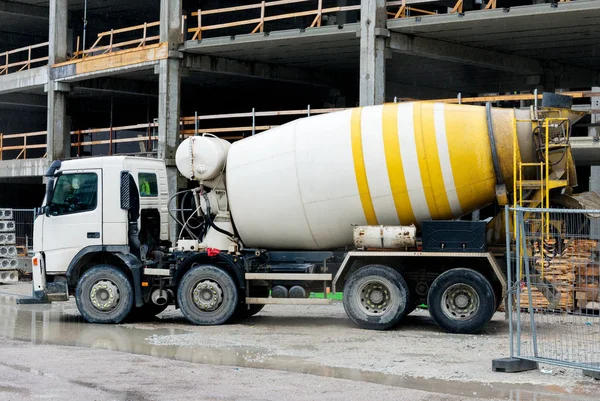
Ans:
[[[514,110],[492,117],[510,188]],[[246,246],[330,249],[353,243],[352,225],[459,217],[495,197],[487,123],[481,106],[386,104],[238,141],[227,160],[233,221]]]

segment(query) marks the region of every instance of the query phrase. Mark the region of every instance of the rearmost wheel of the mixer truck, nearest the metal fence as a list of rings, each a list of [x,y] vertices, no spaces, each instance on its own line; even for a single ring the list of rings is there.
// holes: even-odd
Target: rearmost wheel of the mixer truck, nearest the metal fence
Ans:
[[[429,288],[429,313],[448,333],[480,331],[496,311],[496,296],[483,274],[457,268],[440,274]]]

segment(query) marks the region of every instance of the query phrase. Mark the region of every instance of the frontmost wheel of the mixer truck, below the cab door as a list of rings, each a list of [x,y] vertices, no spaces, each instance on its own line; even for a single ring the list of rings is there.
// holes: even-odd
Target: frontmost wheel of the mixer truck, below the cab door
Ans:
[[[111,265],[98,265],[79,279],[75,300],[86,321],[121,323],[133,307],[133,289],[121,270]]]

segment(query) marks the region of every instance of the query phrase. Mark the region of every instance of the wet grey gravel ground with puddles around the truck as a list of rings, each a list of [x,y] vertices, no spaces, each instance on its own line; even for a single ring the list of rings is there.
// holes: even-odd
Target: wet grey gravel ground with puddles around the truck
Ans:
[[[0,287],[0,292],[4,293],[28,291],[23,284]],[[82,392],[101,390],[106,391],[103,394],[110,395],[110,391],[115,391],[114,399],[130,399],[124,388],[131,384],[132,377],[147,383],[148,387],[137,389],[138,393],[131,399],[140,394],[142,398],[155,394],[151,389],[164,381],[164,371],[177,372],[174,377],[181,380],[181,388],[188,391],[198,384],[194,377],[198,380],[197,377],[213,377],[214,373],[214,377],[223,378],[214,383],[214,388],[206,387],[205,393],[198,399],[217,399],[214,397],[221,391],[229,395],[218,399],[275,399],[276,394],[281,399],[286,394],[282,386],[287,386],[285,391],[289,394],[284,399],[315,399],[317,396],[331,399],[333,394],[339,393],[345,394],[344,399],[373,396],[415,400],[455,399],[453,397],[547,400],[597,399],[600,394],[600,382],[583,376],[578,370],[542,366],[538,371],[521,374],[492,372],[492,359],[505,357],[509,352],[508,323],[500,313],[479,335],[443,333],[426,311],[415,311],[395,330],[366,331],[350,322],[341,303],[330,306],[267,306],[254,318],[215,327],[190,325],[179,311],[169,308],[151,322],[114,326],[83,323],[73,301],[52,306],[17,307],[14,299],[11,295],[0,296],[0,337],[45,345],[19,343],[21,345],[14,346],[13,341],[0,341],[0,346],[5,348],[0,352],[0,370],[14,371],[23,365],[28,369],[57,374],[52,369],[58,365],[57,372],[64,383],[67,379],[83,375],[86,378],[82,381],[96,387],[82,388]],[[558,336],[564,329],[562,324],[549,327]],[[79,363],[75,358],[71,369],[70,364],[65,362],[70,352],[79,355],[84,362]],[[47,356],[37,358],[38,353]],[[135,362],[146,361],[146,358],[154,362]],[[95,365],[95,360],[99,361],[98,365]],[[81,366],[87,366],[85,361],[89,362],[89,369],[81,369]],[[126,372],[130,379],[113,380],[112,371],[94,373],[96,366],[103,366],[102,361],[106,361],[107,369],[112,366],[119,372]],[[163,368],[162,376],[161,369],[152,373],[154,371],[150,367],[153,363]],[[180,366],[196,374],[181,374],[184,369],[170,370]],[[96,375],[99,375],[97,379]],[[8,373],[0,373],[0,377],[9,376]],[[46,380],[44,377],[36,378],[42,387]],[[242,387],[226,385],[230,380],[237,383],[238,377],[239,381],[247,381],[244,389],[246,386],[252,389],[254,385],[260,389],[256,393],[258,398],[252,398],[254,393],[250,390],[244,392],[240,390]],[[109,381],[110,385],[106,384]],[[123,383],[119,384],[121,381]],[[340,384],[350,381],[354,384]],[[171,385],[165,385],[166,393],[156,394],[172,394],[172,398],[167,397],[169,399],[189,395],[184,390],[180,393],[176,389],[169,390]],[[357,390],[370,389],[370,386],[374,387],[365,390],[364,396]],[[394,393],[398,388],[402,391]],[[26,397],[19,392],[21,390],[14,391],[15,397],[8,399]],[[1,394],[0,399],[4,399]],[[407,398],[402,398],[405,395]]]

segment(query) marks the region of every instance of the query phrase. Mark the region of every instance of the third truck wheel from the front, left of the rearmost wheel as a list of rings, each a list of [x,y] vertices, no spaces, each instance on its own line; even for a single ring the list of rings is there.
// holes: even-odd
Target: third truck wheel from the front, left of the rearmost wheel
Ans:
[[[406,316],[409,289],[400,273],[388,266],[368,265],[352,273],[344,286],[344,309],[363,329],[386,330]]]

